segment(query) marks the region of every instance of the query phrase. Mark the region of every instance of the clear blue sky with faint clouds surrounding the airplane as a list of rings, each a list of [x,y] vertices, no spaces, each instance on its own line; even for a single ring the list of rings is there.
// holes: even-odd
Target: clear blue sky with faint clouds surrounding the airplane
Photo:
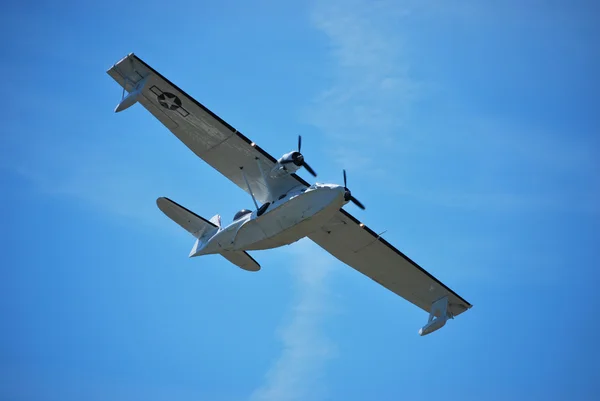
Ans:
[[[5,6],[0,398],[596,399],[599,11]],[[252,201],[143,108],[113,113],[129,52],[274,156],[301,134],[319,181],[347,169],[350,213],[473,309],[419,337],[424,312],[308,240],[258,274],[188,259],[157,197],[224,221]]]

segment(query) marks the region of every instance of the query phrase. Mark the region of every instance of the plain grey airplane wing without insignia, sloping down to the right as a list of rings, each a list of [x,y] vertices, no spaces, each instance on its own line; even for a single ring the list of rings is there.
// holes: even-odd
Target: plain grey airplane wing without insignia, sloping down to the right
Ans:
[[[470,303],[343,209],[308,237],[337,259],[427,312],[445,296],[451,316],[471,308]]]

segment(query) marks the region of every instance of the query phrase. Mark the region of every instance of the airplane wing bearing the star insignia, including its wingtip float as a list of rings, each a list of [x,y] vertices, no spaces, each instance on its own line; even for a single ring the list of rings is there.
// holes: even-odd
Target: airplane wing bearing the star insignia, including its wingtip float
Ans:
[[[107,73],[124,88],[124,95],[127,91],[116,112],[140,103],[198,157],[250,193],[243,168],[254,197],[261,203],[310,185],[296,174],[271,178],[269,172],[277,162],[273,156],[135,54],[118,61]]]

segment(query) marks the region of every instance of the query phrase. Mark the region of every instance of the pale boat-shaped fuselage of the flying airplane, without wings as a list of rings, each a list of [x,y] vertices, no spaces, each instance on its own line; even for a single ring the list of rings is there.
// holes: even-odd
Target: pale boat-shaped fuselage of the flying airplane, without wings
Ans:
[[[271,203],[260,216],[248,213],[220,228],[190,256],[224,251],[276,248],[300,240],[327,223],[345,203],[345,189],[334,184],[314,184],[293,190]]]

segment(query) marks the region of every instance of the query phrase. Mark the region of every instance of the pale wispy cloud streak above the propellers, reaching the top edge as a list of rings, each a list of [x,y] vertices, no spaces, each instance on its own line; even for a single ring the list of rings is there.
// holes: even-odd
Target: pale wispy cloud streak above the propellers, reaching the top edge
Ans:
[[[393,34],[408,13],[395,2],[315,3],[312,22],[330,45],[333,78],[309,120],[335,142],[331,156],[349,170],[374,169],[364,154],[389,148],[421,90],[410,77],[402,38]]]

